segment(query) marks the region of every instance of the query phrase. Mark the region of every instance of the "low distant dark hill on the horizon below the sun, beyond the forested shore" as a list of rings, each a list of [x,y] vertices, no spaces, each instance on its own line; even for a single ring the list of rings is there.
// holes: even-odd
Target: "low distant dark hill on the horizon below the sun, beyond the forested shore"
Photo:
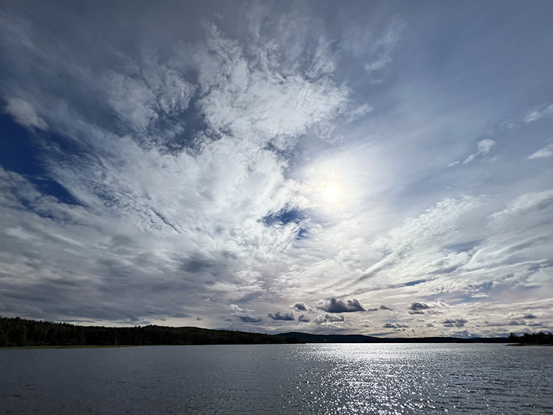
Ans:
[[[291,331],[280,333],[285,338],[295,338],[301,343],[507,343],[507,338],[376,338],[361,334],[309,334]]]

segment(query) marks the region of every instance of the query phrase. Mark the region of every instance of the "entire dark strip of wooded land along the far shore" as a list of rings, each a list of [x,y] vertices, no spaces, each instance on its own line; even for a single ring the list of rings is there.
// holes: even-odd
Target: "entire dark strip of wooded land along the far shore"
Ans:
[[[534,338],[512,338],[536,343]],[[536,338],[537,339],[537,338]],[[549,338],[546,338],[550,342]],[[541,338],[538,339],[541,342]],[[543,341],[545,341],[543,340]],[[200,329],[198,327],[77,326],[0,317],[0,347],[25,346],[143,346],[153,344],[283,344],[283,343],[507,343],[507,338],[377,338],[360,334],[310,334],[292,331],[278,335]]]

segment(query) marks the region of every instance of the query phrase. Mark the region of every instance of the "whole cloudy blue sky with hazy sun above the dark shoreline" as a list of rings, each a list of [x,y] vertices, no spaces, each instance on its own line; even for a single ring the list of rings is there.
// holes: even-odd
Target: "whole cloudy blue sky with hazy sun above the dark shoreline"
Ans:
[[[552,15],[3,1],[0,315],[553,331]]]

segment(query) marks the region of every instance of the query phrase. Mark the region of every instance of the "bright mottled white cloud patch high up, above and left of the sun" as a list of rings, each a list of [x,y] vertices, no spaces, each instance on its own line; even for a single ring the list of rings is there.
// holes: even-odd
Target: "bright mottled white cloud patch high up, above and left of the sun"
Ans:
[[[261,59],[265,49],[250,52],[259,59],[255,65],[236,42],[212,30],[207,50],[196,55],[203,91],[198,105],[216,133],[230,131],[256,145],[270,141],[285,149],[311,127],[346,111],[346,86],[328,77],[313,82],[301,73],[284,76],[274,67],[277,62]]]

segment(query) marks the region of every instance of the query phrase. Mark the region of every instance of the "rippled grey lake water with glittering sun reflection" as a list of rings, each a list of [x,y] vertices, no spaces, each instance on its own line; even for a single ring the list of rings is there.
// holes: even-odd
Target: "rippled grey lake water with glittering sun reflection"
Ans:
[[[0,350],[1,414],[553,414],[553,347]]]

